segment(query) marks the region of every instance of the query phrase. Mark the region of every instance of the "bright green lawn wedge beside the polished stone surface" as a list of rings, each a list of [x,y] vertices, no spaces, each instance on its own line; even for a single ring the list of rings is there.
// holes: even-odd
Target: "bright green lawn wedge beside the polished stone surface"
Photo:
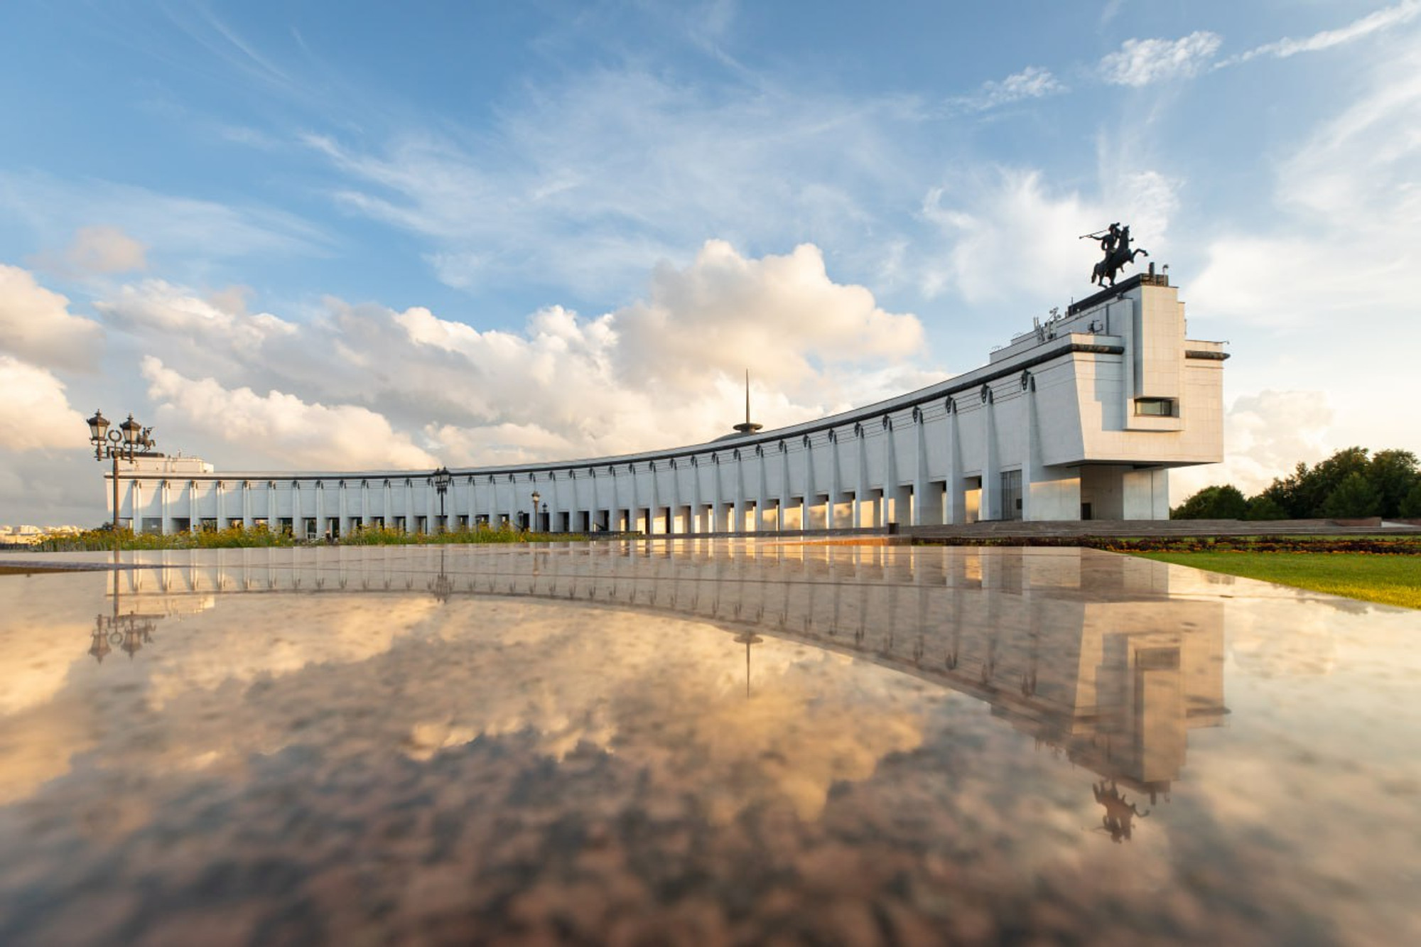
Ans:
[[[1135,553],[1295,589],[1421,609],[1421,556],[1368,553]]]

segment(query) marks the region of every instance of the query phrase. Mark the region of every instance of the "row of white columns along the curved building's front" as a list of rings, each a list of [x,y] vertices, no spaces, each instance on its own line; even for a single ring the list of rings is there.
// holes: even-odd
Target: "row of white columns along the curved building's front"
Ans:
[[[1029,518],[1030,483],[1044,479],[1036,385],[1029,373],[1022,375],[1022,395],[1026,428],[1022,515]],[[554,532],[627,529],[703,533],[782,530],[794,526],[881,528],[890,519],[905,525],[961,523],[973,512],[976,519],[1000,519],[1015,510],[1002,509],[996,397],[988,385],[966,397],[979,401],[972,405],[978,410],[971,412],[968,421],[980,425],[975,439],[983,448],[978,468],[980,474],[973,478],[979,482],[972,485],[963,476],[963,418],[958,404],[949,398],[944,422],[934,425],[941,429],[941,448],[946,458],[945,469],[936,471],[936,475],[929,462],[929,425],[921,410],[914,408],[908,476],[899,476],[899,435],[894,421],[885,415],[881,419],[881,437],[877,438],[882,452],[878,465],[881,476],[877,482],[870,478],[870,444],[874,438],[861,425],[855,425],[853,434],[847,429],[843,434],[838,429],[828,431],[827,439],[820,444],[804,438],[797,491],[791,489],[790,451],[776,449],[774,442],[746,444],[692,458],[578,466],[558,472],[455,475],[443,502],[445,525],[455,528],[483,519],[492,525],[527,522]],[[841,437],[851,437],[855,446],[843,449]],[[828,462],[816,465],[826,449],[830,452]],[[728,459],[722,461],[722,456]],[[689,478],[684,478],[678,468],[685,464],[695,468]],[[712,465],[709,476],[703,475],[706,464]],[[770,476],[772,465],[777,468],[777,478]],[[645,476],[648,472],[651,475]],[[828,482],[820,483],[818,479],[826,472]],[[172,492],[180,489],[176,483],[182,481],[146,481],[149,489],[156,491],[158,505],[156,510],[149,512],[144,502],[145,481],[125,479],[129,488],[126,505],[134,515],[135,529],[146,526],[145,519],[161,518],[163,532],[173,532],[176,509],[183,505],[173,502]],[[587,485],[588,479],[591,485]],[[685,479],[689,479],[689,496],[684,495],[688,492]],[[774,479],[780,485],[777,492],[772,491]],[[205,483],[212,483],[210,491],[200,489]],[[229,512],[229,492],[233,486],[240,499],[236,509]],[[331,489],[337,492],[335,498],[327,498]],[[978,509],[969,510],[968,495],[973,489],[979,491]],[[283,492],[290,499],[283,501]],[[540,493],[537,510],[533,509],[533,492]],[[421,519],[423,528],[433,532],[439,526],[439,496],[428,476],[331,478],[314,482],[280,478],[190,479],[185,505],[192,528],[200,526],[203,519],[215,519],[219,526],[240,522],[247,528],[266,520],[276,528],[280,519],[290,518],[297,532],[307,528],[307,520],[315,520],[318,533],[348,532],[358,525],[394,526],[401,516],[405,518],[405,529],[411,532],[421,525]],[[797,512],[796,518],[789,516],[791,510]],[[823,510],[821,516],[817,510]],[[793,523],[793,519],[799,522]]]

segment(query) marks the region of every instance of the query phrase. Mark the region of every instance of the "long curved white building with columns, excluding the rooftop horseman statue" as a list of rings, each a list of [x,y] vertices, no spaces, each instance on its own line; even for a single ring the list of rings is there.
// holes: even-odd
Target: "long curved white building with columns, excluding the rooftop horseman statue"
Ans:
[[[1223,456],[1223,360],[1168,279],[1070,306],[988,364],[864,408],[708,444],[450,471],[119,466],[119,522],[341,535],[476,523],[723,533],[1029,519],[1167,519],[1169,469]],[[746,425],[749,427],[749,425]],[[534,493],[537,506],[534,508]]]

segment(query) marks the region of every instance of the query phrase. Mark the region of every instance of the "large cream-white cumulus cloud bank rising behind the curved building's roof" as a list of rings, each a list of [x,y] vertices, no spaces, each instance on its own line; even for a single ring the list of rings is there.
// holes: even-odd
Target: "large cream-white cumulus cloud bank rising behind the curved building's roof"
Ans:
[[[772,427],[941,377],[921,365],[915,316],[836,283],[807,245],[746,257],[710,240],[688,266],[657,267],[638,301],[595,317],[550,306],[522,330],[334,299],[303,323],[254,321],[156,280],[99,311],[155,355],[145,377],[163,405],[163,444],[225,466],[234,445],[287,469],[635,452],[728,432],[746,370],[756,419]],[[209,439],[207,412],[225,418],[212,422],[220,441]],[[362,428],[367,446],[334,442],[328,429],[341,427]],[[372,452],[379,442],[391,449]]]

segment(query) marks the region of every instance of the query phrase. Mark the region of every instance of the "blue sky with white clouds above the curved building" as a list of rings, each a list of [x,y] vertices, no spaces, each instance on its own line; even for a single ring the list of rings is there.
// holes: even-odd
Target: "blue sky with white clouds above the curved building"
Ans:
[[[124,3],[0,31],[0,523],[84,418],[219,471],[570,459],[986,363],[1120,220],[1255,492],[1421,454],[1421,0]],[[1128,274],[1130,270],[1127,270]]]

